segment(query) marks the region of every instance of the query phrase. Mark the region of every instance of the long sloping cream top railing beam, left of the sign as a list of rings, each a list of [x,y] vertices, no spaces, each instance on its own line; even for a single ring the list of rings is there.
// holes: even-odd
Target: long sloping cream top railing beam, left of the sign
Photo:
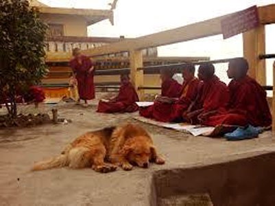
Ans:
[[[141,36],[139,38],[124,40],[119,43],[112,43],[111,45],[87,49],[83,52],[84,54],[89,56],[100,56],[104,54],[113,54],[118,52],[127,52],[130,50],[145,49],[149,47],[158,47],[162,45],[169,45],[197,38],[203,38],[206,36],[221,34],[222,28],[220,22],[226,16],[220,16],[207,21],[193,23],[191,25],[178,27],[173,30],[167,30],[147,36]]]

